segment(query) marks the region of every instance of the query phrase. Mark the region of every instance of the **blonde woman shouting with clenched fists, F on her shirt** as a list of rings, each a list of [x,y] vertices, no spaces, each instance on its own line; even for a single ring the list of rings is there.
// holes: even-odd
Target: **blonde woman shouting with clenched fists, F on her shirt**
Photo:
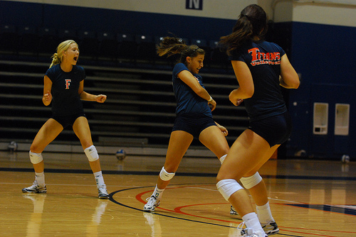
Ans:
[[[103,174],[101,172],[99,155],[91,138],[90,128],[83,111],[82,100],[104,103],[104,94],[94,95],[84,92],[85,71],[77,66],[79,57],[78,44],[74,40],[66,40],[58,45],[50,68],[44,76],[43,104],[52,102],[52,117],[38,131],[30,148],[30,160],[35,170],[35,181],[30,187],[22,189],[26,193],[46,193],[44,165],[42,152],[63,131],[72,126],[76,136],[87,156],[93,170],[98,187],[98,197],[108,199]]]

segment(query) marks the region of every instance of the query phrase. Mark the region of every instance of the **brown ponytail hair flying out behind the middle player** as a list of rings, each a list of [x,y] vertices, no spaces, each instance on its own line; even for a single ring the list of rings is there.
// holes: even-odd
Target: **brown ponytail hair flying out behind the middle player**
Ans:
[[[180,54],[179,62],[187,64],[187,57],[197,57],[197,55],[205,55],[205,51],[197,45],[187,45],[184,40],[176,37],[164,37],[157,45],[157,54],[159,56],[167,55],[170,57],[175,54]]]

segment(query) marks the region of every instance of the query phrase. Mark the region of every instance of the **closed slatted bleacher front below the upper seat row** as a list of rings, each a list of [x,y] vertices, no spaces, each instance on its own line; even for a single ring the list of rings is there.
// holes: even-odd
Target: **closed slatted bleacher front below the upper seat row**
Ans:
[[[0,61],[1,138],[32,140],[51,116],[41,101],[43,74],[48,63]],[[93,140],[146,138],[151,145],[167,145],[174,122],[175,99],[170,71],[85,66],[85,91],[107,94],[104,104],[83,101]],[[218,103],[214,118],[229,129],[232,141],[246,126],[243,107],[230,105],[235,86],[227,75],[203,75]],[[241,128],[242,126],[242,128]],[[77,141],[67,128],[56,140]]]

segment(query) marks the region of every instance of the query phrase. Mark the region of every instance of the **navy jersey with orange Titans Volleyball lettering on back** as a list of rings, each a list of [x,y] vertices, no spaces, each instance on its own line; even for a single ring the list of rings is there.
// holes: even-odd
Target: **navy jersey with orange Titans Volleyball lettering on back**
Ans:
[[[255,88],[253,96],[244,99],[250,121],[287,111],[279,85],[281,57],[284,54],[280,46],[264,40],[248,41],[241,48],[231,52],[229,59],[246,62],[253,78]]]

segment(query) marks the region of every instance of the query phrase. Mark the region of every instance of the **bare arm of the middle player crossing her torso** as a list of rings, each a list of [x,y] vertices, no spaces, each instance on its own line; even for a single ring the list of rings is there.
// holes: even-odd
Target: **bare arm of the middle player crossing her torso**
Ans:
[[[208,101],[208,104],[211,104],[211,111],[213,111],[216,107],[216,101],[211,98],[210,94],[204,89],[204,87],[201,87],[199,84],[198,80],[195,79],[195,77],[192,75],[191,72],[187,70],[183,70],[182,72],[179,72],[177,74],[179,79],[182,80],[185,84],[187,84],[188,87],[190,87],[195,94],[197,94],[199,97],[206,99]],[[209,101],[211,100],[211,101]]]

